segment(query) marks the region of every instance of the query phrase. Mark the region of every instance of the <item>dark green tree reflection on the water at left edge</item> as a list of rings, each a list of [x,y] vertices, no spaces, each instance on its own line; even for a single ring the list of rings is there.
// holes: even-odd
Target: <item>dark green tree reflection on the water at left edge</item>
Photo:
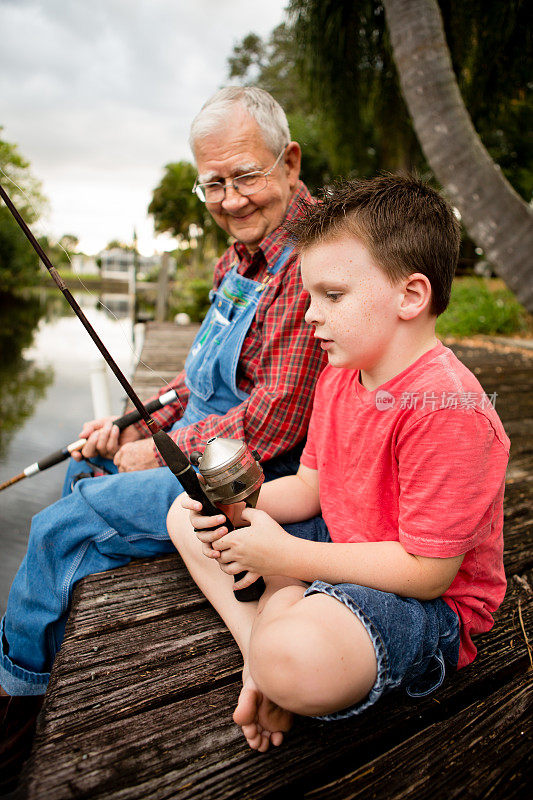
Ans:
[[[50,365],[40,367],[22,355],[46,310],[39,297],[0,293],[0,458],[15,431],[32,416],[54,377]]]

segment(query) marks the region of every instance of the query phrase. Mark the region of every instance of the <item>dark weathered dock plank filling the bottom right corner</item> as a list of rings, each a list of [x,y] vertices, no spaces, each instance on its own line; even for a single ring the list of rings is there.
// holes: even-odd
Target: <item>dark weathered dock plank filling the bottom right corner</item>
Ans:
[[[464,787],[468,797],[523,797],[523,760],[533,745],[532,715],[533,684],[528,675],[520,675],[489,698],[428,726],[339,781],[312,790],[306,799],[434,800],[436,786],[446,798],[463,798]]]

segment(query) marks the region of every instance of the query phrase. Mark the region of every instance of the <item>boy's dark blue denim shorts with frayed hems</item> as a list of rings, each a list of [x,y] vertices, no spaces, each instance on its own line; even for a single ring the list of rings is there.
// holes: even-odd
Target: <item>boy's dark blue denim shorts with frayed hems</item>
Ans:
[[[287,533],[312,542],[331,542],[322,517],[283,526]],[[444,600],[415,600],[354,583],[314,581],[305,597],[328,594],[344,603],[364,625],[376,653],[377,678],[356,705],[318,719],[338,720],[360,714],[392,689],[424,697],[438,689],[446,667],[459,658],[459,617]]]

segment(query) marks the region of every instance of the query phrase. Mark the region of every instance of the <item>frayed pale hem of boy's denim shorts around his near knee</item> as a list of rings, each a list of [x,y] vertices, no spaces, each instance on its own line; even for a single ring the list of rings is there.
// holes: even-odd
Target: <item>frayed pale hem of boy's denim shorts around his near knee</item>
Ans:
[[[349,706],[348,708],[343,708],[341,711],[335,711],[333,714],[325,714],[324,716],[316,717],[316,719],[334,722],[338,719],[346,719],[347,717],[353,717],[357,714],[361,714],[367,708],[374,705],[377,700],[379,700],[387,685],[387,650],[381,638],[380,632],[375,627],[372,620],[366,616],[364,611],[359,608],[357,603],[354,603],[348,594],[343,592],[341,589],[338,589],[336,586],[332,586],[330,583],[324,583],[324,581],[314,581],[314,583],[312,583],[311,586],[304,592],[304,597],[308,597],[311,594],[328,594],[330,597],[334,597],[335,600],[338,600],[340,603],[344,603],[344,605],[347,606],[347,608],[349,608],[353,614],[355,614],[359,622],[363,625],[366,632],[370,636],[370,641],[372,642],[378,665],[378,673],[375,683],[363,700],[361,700],[359,703]]]

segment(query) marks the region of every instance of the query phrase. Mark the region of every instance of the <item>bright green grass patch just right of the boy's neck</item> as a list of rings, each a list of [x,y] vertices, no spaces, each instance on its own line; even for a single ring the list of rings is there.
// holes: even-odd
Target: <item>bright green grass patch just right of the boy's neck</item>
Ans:
[[[533,336],[533,317],[498,278],[460,277],[437,322],[439,336]]]

